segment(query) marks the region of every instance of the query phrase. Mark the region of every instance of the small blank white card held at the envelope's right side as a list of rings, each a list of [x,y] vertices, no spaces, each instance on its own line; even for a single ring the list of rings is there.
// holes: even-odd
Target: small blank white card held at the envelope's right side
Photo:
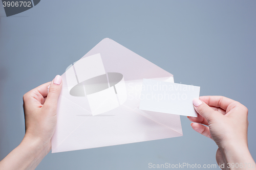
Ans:
[[[144,79],[140,109],[197,117],[193,99],[199,99],[200,87]]]

